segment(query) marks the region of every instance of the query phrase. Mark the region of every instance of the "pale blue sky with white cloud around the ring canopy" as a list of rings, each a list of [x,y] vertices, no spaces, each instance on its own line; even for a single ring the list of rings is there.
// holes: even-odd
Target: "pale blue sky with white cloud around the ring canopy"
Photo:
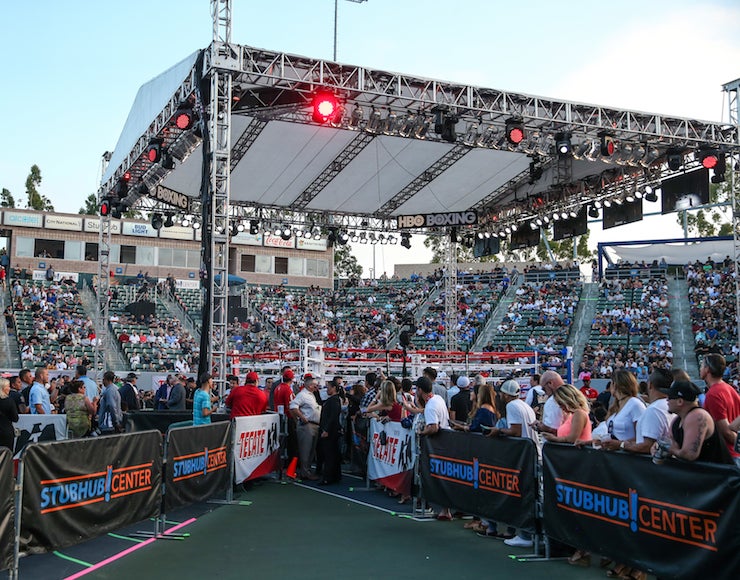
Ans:
[[[332,57],[334,0],[233,6],[234,42]],[[737,0],[339,0],[338,30],[341,62],[711,121],[727,119],[721,85],[740,77]],[[211,34],[208,0],[0,0],[0,188],[25,207],[35,163],[41,193],[76,213],[138,88]],[[592,238],[652,237],[652,221]],[[673,222],[661,237],[680,234]],[[423,261],[420,246],[378,246],[377,272]]]

